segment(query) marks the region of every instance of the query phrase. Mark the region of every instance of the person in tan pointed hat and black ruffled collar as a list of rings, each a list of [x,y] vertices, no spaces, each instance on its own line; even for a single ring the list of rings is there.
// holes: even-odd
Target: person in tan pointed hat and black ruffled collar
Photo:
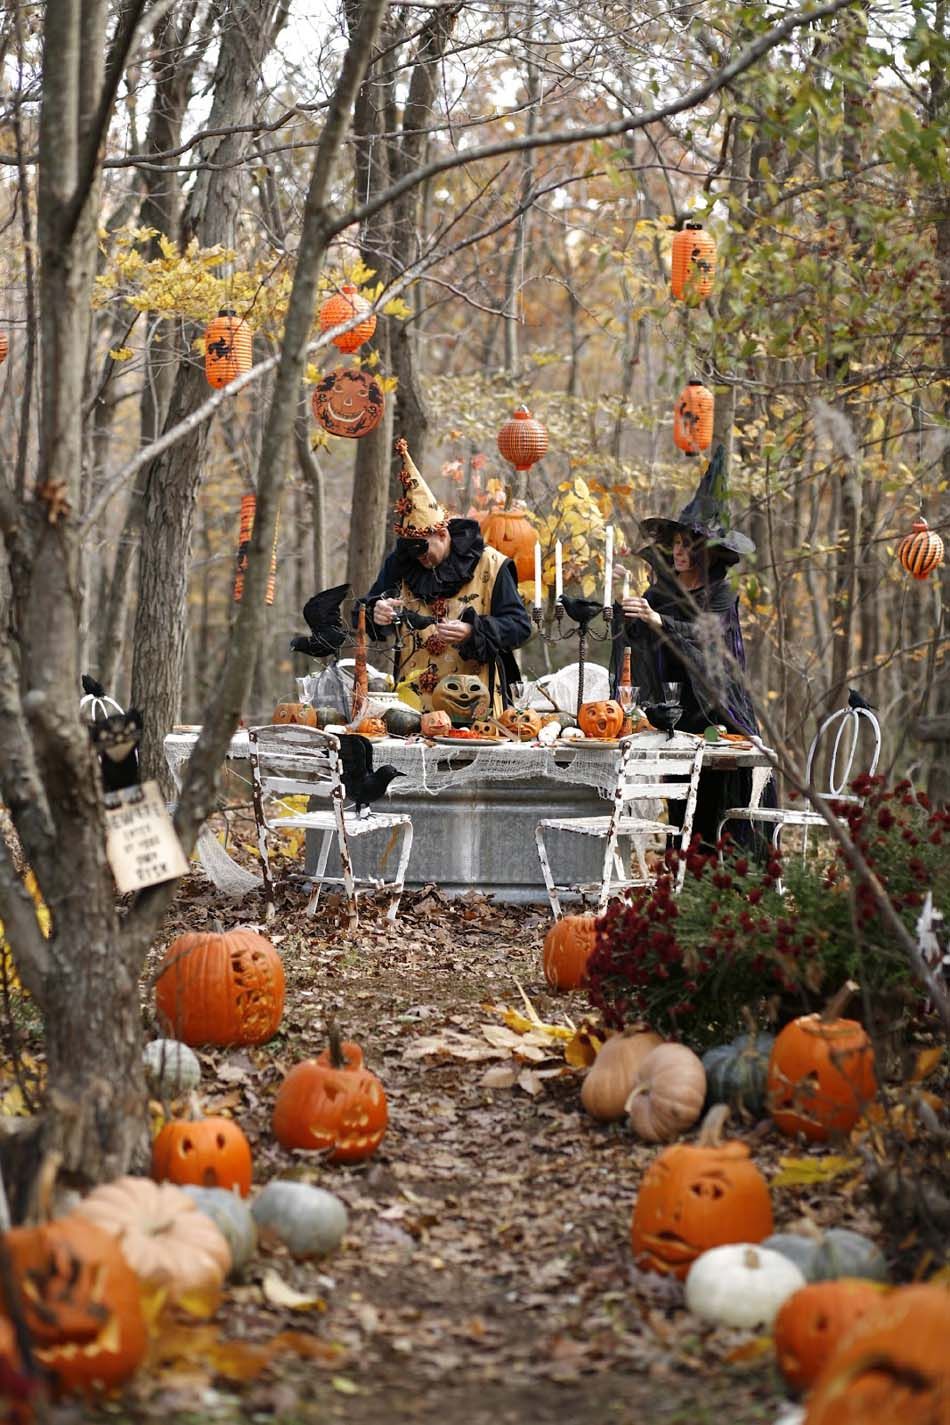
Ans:
[[[481,678],[500,712],[508,684],[521,677],[513,650],[531,637],[513,560],[486,544],[476,520],[447,519],[416,469],[404,440],[403,493],[395,507],[396,546],[366,596],[366,630],[385,638],[399,620],[407,654],[399,675],[412,680],[423,710],[450,673]]]

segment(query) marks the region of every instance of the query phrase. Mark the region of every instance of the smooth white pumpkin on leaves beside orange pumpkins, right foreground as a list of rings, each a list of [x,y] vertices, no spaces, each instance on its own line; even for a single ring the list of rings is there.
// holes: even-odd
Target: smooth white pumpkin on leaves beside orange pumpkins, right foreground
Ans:
[[[721,1327],[771,1327],[779,1307],[805,1285],[788,1257],[752,1243],[712,1247],[687,1275],[687,1307]]]

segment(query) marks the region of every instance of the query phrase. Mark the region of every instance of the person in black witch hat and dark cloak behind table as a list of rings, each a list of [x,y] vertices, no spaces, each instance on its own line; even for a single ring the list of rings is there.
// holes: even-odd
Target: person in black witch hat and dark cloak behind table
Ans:
[[[758,722],[745,684],[745,648],[739,627],[739,598],[728,570],[755,544],[729,522],[725,450],[718,446],[696,493],[675,519],[640,522],[648,544],[638,550],[652,571],[645,594],[624,598],[622,636],[614,658],[631,648],[632,681],[642,704],[667,701],[664,684],[679,684],[682,717],[677,731],[702,732],[725,727],[729,732],[756,734]],[[726,807],[745,807],[752,792],[752,772],[705,770],[694,831],[706,849],[716,838]],[[766,789],[763,805],[769,805]],[[682,817],[684,802],[671,802],[672,817]],[[746,838],[748,822],[731,828]]]

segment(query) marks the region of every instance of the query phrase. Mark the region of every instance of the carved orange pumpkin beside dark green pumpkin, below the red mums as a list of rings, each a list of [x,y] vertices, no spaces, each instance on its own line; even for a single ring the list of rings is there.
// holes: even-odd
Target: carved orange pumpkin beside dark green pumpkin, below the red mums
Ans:
[[[782,1133],[819,1143],[847,1133],[876,1092],[875,1052],[855,1019],[802,1015],[772,1046],[768,1103]]]

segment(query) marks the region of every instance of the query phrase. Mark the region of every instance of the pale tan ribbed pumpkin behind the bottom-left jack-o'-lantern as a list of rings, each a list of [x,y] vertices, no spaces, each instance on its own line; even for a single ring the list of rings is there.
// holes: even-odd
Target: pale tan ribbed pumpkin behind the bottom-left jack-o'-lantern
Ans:
[[[179,1187],[120,1177],[94,1188],[75,1211],[117,1237],[138,1280],[161,1287],[168,1301],[195,1294],[216,1300],[231,1271],[231,1248]]]

